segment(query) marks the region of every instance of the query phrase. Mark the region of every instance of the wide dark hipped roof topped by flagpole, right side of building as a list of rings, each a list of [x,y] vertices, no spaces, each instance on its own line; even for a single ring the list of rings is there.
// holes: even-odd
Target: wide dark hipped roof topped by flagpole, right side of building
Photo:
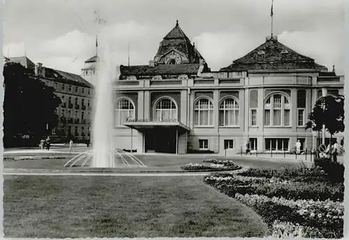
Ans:
[[[311,69],[325,70],[325,66],[315,63],[306,57],[280,43],[274,36],[267,38],[265,43],[255,48],[244,57],[236,59],[230,66],[221,70],[295,70]]]

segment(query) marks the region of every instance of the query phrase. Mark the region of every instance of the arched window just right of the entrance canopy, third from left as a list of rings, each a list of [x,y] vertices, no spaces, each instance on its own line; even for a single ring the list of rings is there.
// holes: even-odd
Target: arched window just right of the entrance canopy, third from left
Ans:
[[[195,126],[213,126],[214,125],[214,105],[208,98],[200,98],[196,101],[195,107]]]

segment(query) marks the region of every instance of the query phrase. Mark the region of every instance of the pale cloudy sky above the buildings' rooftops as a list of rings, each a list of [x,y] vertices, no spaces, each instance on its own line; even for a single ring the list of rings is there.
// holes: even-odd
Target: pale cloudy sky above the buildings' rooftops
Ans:
[[[10,0],[3,54],[80,74],[96,54],[98,29],[109,34],[118,63],[148,64],[176,20],[212,70],[228,66],[271,33],[271,0]],[[316,62],[343,74],[343,0],[274,0],[274,35]],[[107,21],[95,23],[94,10]]]

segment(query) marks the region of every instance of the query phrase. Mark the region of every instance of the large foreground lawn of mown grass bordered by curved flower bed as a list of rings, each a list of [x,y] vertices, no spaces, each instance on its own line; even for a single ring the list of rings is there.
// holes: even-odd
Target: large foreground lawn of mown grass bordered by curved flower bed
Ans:
[[[255,212],[202,177],[4,176],[5,237],[262,237]]]

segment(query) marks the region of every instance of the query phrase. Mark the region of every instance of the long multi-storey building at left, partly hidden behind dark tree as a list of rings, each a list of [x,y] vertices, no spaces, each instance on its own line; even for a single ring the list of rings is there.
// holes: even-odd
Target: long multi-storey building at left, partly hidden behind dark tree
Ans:
[[[43,63],[33,63],[27,57],[10,57],[10,61],[20,63],[32,70],[32,77],[45,82],[54,88],[54,93],[61,98],[62,104],[57,107],[59,123],[52,129],[52,140],[55,142],[75,142],[89,140],[93,85],[79,75],[61,70],[47,68]]]

